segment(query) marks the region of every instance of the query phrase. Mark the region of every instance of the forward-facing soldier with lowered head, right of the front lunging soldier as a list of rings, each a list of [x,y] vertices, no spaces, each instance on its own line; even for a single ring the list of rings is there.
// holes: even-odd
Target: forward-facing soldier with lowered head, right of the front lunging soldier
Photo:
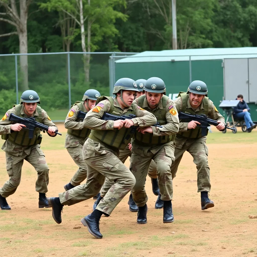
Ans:
[[[144,84],[145,95],[134,102],[141,108],[154,114],[160,127],[140,128],[132,140],[130,170],[136,178],[131,190],[133,200],[138,208],[137,223],[147,223],[145,178],[151,160],[157,165],[158,184],[163,205],[163,223],[174,221],[172,213],[172,176],[171,164],[174,162],[174,139],[179,130],[179,119],[175,103],[165,95],[166,89],[162,79],[149,78]],[[146,133],[148,132],[148,133]]]

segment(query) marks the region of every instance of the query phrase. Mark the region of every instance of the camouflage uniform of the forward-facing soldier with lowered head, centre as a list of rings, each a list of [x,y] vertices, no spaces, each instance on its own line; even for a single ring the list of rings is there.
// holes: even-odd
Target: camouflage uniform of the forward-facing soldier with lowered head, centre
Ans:
[[[164,201],[172,199],[170,166],[175,159],[174,137],[179,129],[179,119],[174,102],[166,95],[162,96],[159,104],[153,110],[149,107],[145,95],[135,99],[134,102],[143,109],[154,113],[155,116],[157,116],[157,114],[161,115],[163,112],[162,128],[152,127],[153,134],[146,133],[143,135],[141,132],[136,132],[132,140],[130,170],[136,178],[136,184],[131,192],[134,202],[137,206],[141,207],[144,206],[148,200],[145,192],[145,180],[151,160],[154,160],[157,165],[161,199]],[[140,102],[143,104],[141,105]],[[157,121],[159,121],[158,118]],[[142,138],[145,138],[145,141]],[[148,141],[148,143],[146,141]],[[152,143],[155,141],[157,143]]]

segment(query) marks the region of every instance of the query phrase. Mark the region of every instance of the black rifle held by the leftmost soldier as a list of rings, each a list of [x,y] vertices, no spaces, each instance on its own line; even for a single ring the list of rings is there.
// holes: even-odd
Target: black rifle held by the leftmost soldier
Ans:
[[[35,130],[35,128],[40,128],[41,130],[48,132],[48,126],[44,125],[40,122],[37,122],[34,117],[21,118],[15,114],[11,113],[8,120],[9,121],[17,121],[16,123],[21,123],[21,124],[25,125],[26,127],[24,127],[24,128],[29,130],[29,138],[30,139],[33,138],[33,131]],[[61,133],[58,133],[58,130],[56,130],[54,133],[56,133],[58,135],[62,135]]]

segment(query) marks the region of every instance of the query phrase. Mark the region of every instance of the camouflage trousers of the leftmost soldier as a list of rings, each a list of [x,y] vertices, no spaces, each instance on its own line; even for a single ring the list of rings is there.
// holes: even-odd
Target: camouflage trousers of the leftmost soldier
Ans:
[[[35,168],[36,172],[38,172],[36,191],[39,193],[46,193],[48,191],[49,169],[47,162],[45,161],[44,153],[39,147],[39,145],[32,146],[30,154],[27,154],[24,151],[19,152],[18,156],[9,152],[5,153],[6,169],[9,175],[9,180],[4,183],[2,188],[0,188],[0,194],[3,197],[8,197],[9,195],[14,194],[17,187],[20,185],[21,169],[24,160],[29,162]]]

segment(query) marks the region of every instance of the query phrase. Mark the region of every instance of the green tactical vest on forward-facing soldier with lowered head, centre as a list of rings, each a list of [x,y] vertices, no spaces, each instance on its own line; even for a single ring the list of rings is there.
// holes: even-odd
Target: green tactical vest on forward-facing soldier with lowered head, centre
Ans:
[[[144,103],[145,95],[142,95],[138,98],[137,105],[142,108]],[[151,111],[151,113],[157,118],[157,122],[160,123],[160,125],[167,124],[166,120],[166,105],[169,97],[166,95],[162,96],[162,109],[157,108],[154,111]],[[175,139],[175,134],[168,135],[168,136],[153,136],[152,133],[145,133],[142,134],[141,132],[136,132],[135,134],[135,143],[139,145],[160,145],[160,144],[166,144],[170,141],[173,141]]]

